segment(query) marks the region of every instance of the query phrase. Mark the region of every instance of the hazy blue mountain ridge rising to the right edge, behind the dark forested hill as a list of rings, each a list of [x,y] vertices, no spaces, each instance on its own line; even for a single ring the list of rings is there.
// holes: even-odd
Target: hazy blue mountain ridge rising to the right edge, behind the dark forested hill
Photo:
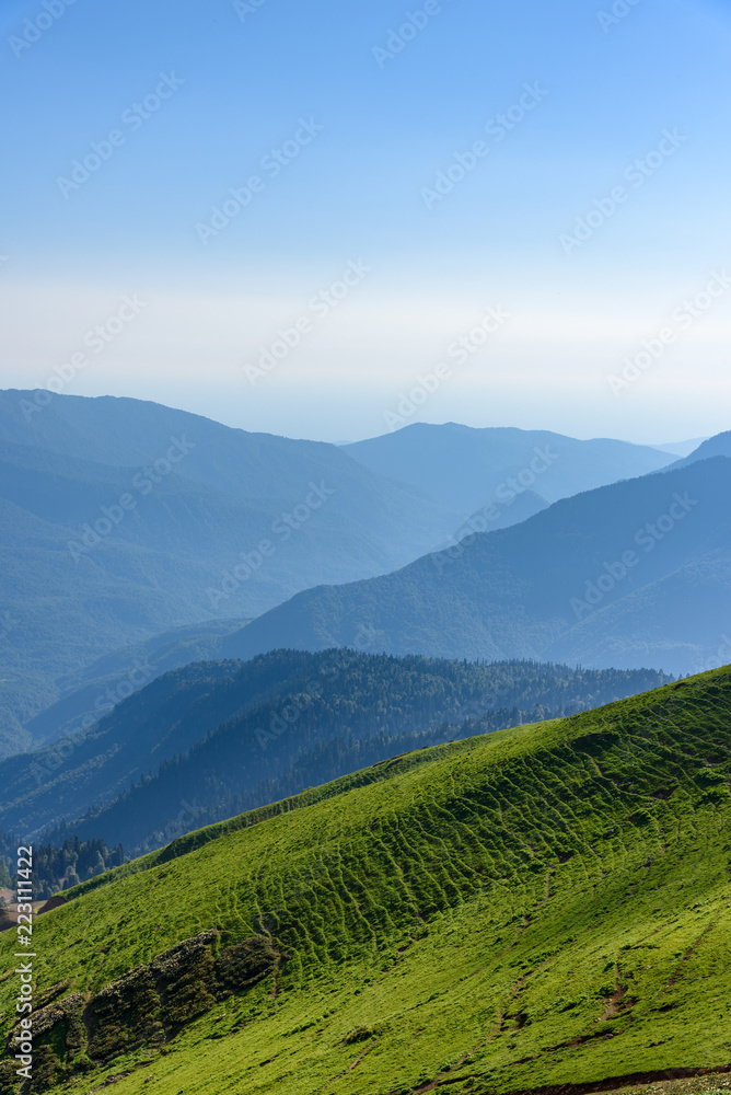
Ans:
[[[589,491],[367,581],[298,593],[223,641],[431,657],[535,658],[689,673],[721,664],[731,597],[731,459]]]

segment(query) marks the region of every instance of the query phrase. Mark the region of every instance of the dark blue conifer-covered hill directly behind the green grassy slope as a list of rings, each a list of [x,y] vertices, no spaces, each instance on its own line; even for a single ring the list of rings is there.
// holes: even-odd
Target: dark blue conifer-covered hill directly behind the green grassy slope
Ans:
[[[653,670],[476,665],[279,650],[166,673],[78,738],[0,763],[0,826],[160,846],[364,764],[585,711],[657,687]],[[80,820],[83,819],[83,820]],[[31,822],[31,823],[28,823]],[[72,830],[58,828],[72,825]]]

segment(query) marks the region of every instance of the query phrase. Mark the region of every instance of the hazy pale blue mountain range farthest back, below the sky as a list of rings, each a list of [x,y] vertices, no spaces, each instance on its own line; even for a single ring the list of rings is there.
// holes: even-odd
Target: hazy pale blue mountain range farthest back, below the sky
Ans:
[[[387,574],[474,527],[504,528],[562,493],[673,460],[626,442],[446,425],[426,427],[425,476],[421,427],[344,449],[136,400],[46,392],[40,405],[37,394],[0,393],[4,756],[141,677],[137,654],[113,682],[90,676],[100,659],[119,664],[197,624],[153,672],[217,656],[220,624],[234,631],[300,591]],[[378,456],[395,442],[398,460]],[[379,460],[381,471],[369,466]]]

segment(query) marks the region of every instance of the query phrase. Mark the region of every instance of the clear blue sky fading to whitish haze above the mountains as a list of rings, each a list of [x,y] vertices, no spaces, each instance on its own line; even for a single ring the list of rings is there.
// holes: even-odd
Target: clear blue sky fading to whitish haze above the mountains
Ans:
[[[728,429],[731,0],[2,0],[3,388]]]

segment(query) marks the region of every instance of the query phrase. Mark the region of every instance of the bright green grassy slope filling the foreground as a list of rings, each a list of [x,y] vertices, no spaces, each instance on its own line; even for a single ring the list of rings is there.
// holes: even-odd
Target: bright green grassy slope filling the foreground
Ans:
[[[730,718],[717,670],[405,758],[88,887],[37,921],[38,991],[96,993],[211,929],[277,961],[72,1090],[481,1095],[729,1065]],[[5,1030],[14,989],[0,973]]]

